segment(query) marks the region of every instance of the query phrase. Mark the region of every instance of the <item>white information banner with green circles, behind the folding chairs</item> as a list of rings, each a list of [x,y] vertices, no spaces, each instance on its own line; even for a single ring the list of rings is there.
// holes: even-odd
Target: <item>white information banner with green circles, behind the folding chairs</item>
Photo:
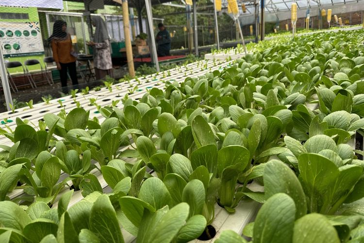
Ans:
[[[5,57],[44,54],[39,22],[3,22],[0,43]]]

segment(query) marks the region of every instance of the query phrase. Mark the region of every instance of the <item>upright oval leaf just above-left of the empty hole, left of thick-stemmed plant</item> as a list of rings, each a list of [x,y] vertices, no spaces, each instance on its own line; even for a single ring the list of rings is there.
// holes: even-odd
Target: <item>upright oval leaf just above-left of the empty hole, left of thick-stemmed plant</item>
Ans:
[[[201,214],[205,203],[205,188],[200,180],[194,179],[187,183],[182,192],[182,201],[190,206],[190,217]]]

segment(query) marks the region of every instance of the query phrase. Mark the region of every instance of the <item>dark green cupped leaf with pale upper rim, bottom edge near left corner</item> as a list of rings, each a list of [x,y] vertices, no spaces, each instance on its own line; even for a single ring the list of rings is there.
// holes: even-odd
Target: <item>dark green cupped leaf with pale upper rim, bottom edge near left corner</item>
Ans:
[[[57,228],[57,224],[51,220],[36,219],[24,227],[23,234],[32,243],[38,243],[49,234],[56,235]]]

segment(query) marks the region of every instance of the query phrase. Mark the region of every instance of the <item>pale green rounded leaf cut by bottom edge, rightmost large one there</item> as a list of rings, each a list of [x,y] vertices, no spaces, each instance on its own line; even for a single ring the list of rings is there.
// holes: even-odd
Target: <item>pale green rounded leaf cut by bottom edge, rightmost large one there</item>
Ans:
[[[311,213],[295,222],[293,243],[340,243],[337,232],[325,216]]]

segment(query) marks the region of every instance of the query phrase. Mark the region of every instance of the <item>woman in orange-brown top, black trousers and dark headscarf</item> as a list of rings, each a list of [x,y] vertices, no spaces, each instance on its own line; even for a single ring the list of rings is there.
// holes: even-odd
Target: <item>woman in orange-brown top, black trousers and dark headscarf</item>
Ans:
[[[53,34],[48,41],[51,43],[53,59],[61,77],[62,92],[67,94],[67,70],[74,88],[78,88],[76,53],[72,47],[71,35],[66,32],[67,23],[56,20],[53,25]]]

